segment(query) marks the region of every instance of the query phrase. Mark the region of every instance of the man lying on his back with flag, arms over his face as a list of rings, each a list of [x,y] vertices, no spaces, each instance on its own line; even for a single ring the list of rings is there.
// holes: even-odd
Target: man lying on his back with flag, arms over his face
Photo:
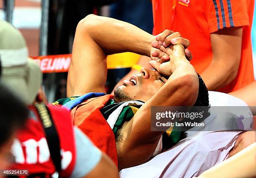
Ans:
[[[157,42],[172,38],[176,39],[172,49]],[[187,60],[188,51],[185,56],[187,46],[189,41],[179,33],[164,31],[156,37],[129,23],[88,15],[77,25],[74,38],[69,98],[54,104],[71,109],[74,125],[116,163],[118,160],[119,169],[145,163],[161,153],[163,145],[180,140],[179,132],[151,132],[151,106],[209,104],[207,89]],[[123,81],[114,96],[105,95],[106,56],[126,51],[160,58],[150,61],[156,70],[143,68]]]

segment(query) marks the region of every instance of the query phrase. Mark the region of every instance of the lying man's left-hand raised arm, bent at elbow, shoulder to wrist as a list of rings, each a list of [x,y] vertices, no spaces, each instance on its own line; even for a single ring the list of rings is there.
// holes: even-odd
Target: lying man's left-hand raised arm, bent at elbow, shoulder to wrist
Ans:
[[[67,80],[67,96],[105,92],[106,56],[134,52],[150,56],[154,36],[113,18],[88,15],[77,25],[72,61]]]

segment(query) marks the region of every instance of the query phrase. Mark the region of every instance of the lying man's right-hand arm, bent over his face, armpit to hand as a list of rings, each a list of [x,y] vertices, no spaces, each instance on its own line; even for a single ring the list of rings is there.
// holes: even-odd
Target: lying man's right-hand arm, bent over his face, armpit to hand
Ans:
[[[183,46],[175,45],[170,58],[163,64],[150,62],[159,73],[171,76],[119,130],[123,135],[123,141],[116,143],[120,169],[146,162],[154,153],[162,132],[151,132],[151,106],[192,106],[197,99],[198,76],[185,57]]]

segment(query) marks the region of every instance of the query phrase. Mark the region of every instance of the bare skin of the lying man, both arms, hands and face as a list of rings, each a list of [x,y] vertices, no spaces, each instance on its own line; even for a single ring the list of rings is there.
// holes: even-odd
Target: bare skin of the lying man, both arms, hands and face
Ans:
[[[161,37],[173,34],[167,32]],[[105,92],[106,56],[109,54],[129,51],[161,59],[150,62],[156,70],[143,68],[140,74],[134,75],[132,79],[136,84],[126,80],[118,87],[128,100],[146,102],[119,130],[123,135],[123,141],[116,143],[119,169],[144,163],[154,153],[162,132],[151,132],[151,106],[192,106],[195,103],[198,76],[185,56],[184,46],[188,45],[189,41],[180,38],[180,43],[172,49],[164,48],[155,36],[112,18],[89,15],[79,22],[68,74],[68,97]],[[162,75],[168,76],[167,79]],[[115,94],[116,102],[123,100]]]

